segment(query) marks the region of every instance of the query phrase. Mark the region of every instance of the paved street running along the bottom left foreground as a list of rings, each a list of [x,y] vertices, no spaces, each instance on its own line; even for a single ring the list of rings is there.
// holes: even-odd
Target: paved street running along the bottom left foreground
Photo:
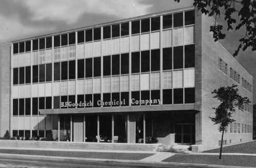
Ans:
[[[173,168],[196,168],[207,166],[191,166],[178,164],[158,164],[158,163],[131,163],[131,162],[111,162],[111,161],[92,161],[92,160],[77,160],[77,159],[60,159],[50,157],[30,157],[30,156],[13,156],[1,155],[0,167],[173,167]]]

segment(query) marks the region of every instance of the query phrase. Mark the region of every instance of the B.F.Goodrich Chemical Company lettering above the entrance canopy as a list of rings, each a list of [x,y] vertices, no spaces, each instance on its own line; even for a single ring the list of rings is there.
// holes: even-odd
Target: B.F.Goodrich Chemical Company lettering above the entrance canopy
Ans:
[[[126,105],[128,102],[125,101],[125,99],[121,101],[97,101],[98,106],[118,106],[118,105]],[[132,105],[150,105],[150,104],[161,104],[160,99],[150,99],[150,100],[135,100],[134,98],[131,99],[131,104]],[[68,102],[61,102],[60,107],[93,107],[93,102],[92,101],[84,101],[84,102],[79,102],[79,103],[72,103],[71,101]]]

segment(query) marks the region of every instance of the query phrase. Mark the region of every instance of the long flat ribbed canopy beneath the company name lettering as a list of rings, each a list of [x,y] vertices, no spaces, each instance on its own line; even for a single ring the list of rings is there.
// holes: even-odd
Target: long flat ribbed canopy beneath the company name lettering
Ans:
[[[89,108],[62,108],[39,109],[41,115],[53,114],[86,114],[86,113],[120,113],[136,111],[166,111],[166,110],[195,110],[200,111],[201,105],[191,104],[166,104],[166,105],[141,105],[141,106],[115,106],[115,107],[89,107]]]

